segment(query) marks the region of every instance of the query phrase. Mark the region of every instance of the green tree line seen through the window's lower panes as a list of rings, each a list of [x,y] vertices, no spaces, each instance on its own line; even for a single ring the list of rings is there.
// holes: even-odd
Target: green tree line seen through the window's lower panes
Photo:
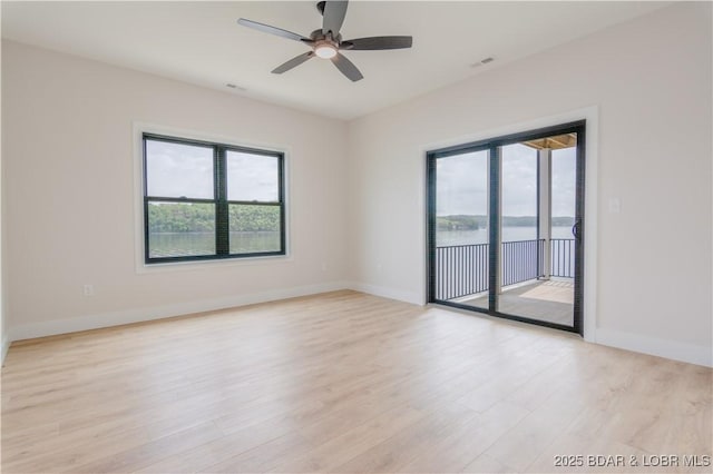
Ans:
[[[279,231],[280,207],[228,206],[231,231]],[[215,206],[212,204],[150,204],[149,233],[213,233]]]

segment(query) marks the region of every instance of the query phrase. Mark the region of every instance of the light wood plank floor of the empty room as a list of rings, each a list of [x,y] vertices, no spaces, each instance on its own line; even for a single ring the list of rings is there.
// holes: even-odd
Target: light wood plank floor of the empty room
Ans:
[[[13,344],[1,467],[572,472],[554,465],[570,455],[595,471],[588,455],[710,456],[712,383],[565,333],[338,292]]]

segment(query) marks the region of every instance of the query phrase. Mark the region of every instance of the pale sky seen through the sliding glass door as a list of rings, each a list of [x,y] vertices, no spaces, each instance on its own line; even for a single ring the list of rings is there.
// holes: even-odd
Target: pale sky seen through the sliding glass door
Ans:
[[[576,148],[553,151],[553,216],[574,216]],[[537,150],[502,147],[502,215],[537,215]],[[437,215],[487,215],[488,151],[437,161]]]

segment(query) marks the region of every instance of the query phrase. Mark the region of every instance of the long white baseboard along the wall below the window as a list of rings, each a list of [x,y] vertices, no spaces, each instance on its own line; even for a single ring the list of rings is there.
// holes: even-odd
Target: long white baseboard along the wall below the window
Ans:
[[[102,313],[80,316],[69,319],[48,320],[16,326],[11,329],[11,340],[32,339],[37,337],[55,336],[58,334],[77,333],[80,330],[99,329],[102,327],[120,326],[131,323],[144,323],[167,317],[183,316],[194,313],[212,312],[233,308],[237,306],[254,305],[257,303],[274,302],[279,299],[294,298],[299,296],[315,295],[319,293],[348,289],[343,282],[300,286],[270,292],[236,295],[225,298],[204,299],[197,302],[178,303],[173,305],[154,306],[148,308],[127,309],[120,312]],[[3,355],[6,344],[3,340]]]

